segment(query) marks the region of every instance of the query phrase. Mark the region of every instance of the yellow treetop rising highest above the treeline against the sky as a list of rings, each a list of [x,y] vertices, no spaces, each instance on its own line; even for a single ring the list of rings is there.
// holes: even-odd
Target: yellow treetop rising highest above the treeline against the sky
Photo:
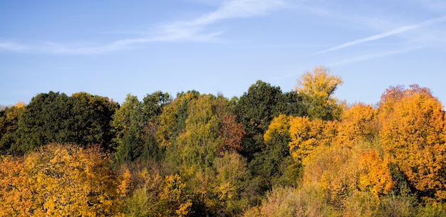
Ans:
[[[296,91],[302,95],[308,116],[322,120],[335,120],[341,115],[342,107],[334,92],[342,79],[331,74],[327,68],[316,67],[306,72],[297,81]]]

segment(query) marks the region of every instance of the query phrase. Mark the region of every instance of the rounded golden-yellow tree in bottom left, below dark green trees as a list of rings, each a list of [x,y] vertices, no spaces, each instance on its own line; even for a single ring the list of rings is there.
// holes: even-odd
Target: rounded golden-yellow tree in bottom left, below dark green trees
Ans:
[[[109,169],[110,158],[98,148],[49,144],[26,157],[33,208],[49,216],[118,215],[130,177]]]

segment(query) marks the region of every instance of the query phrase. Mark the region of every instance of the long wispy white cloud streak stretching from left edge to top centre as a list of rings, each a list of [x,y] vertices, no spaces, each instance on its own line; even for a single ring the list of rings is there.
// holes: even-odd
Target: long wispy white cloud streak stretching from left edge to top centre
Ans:
[[[282,0],[229,0],[224,1],[215,11],[189,21],[160,24],[154,31],[139,38],[123,38],[96,46],[68,46],[57,42],[24,45],[0,41],[0,50],[87,55],[125,50],[138,44],[151,42],[215,41],[223,32],[208,32],[208,26],[227,19],[263,16],[285,5]]]

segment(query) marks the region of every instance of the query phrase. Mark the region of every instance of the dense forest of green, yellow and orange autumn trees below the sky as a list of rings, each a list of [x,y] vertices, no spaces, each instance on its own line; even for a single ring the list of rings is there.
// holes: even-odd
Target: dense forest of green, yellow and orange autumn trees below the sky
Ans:
[[[40,93],[0,111],[0,216],[446,216],[446,119],[418,85],[376,105],[295,90]]]

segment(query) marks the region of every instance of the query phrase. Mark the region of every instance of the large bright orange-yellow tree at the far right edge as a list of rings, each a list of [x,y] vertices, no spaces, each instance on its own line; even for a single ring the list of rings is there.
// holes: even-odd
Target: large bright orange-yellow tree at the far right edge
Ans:
[[[380,120],[385,154],[409,184],[424,199],[446,201],[446,125],[441,102],[418,85],[408,90],[391,88],[380,101]]]

